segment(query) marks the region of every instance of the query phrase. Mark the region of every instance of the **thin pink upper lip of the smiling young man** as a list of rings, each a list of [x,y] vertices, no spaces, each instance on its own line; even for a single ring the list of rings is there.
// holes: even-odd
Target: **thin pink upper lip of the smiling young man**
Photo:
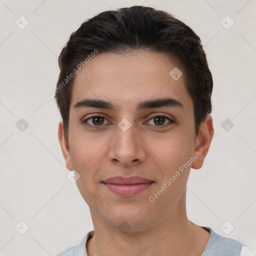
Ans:
[[[141,184],[141,183],[150,183],[152,180],[147,178],[143,178],[140,176],[131,176],[131,177],[122,177],[122,176],[114,176],[107,178],[102,181],[107,184],[116,184],[116,185],[133,185],[133,184]]]

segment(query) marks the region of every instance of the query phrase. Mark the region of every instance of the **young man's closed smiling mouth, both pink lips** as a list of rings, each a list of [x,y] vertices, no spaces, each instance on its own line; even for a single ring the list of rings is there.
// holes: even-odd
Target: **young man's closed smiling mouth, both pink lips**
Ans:
[[[131,196],[146,190],[154,181],[139,176],[114,176],[102,183],[112,192],[120,196]]]

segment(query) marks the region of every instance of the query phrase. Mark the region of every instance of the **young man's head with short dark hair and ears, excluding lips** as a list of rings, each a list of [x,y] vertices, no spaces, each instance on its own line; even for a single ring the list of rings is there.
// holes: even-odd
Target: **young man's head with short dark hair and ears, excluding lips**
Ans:
[[[182,208],[189,169],[201,167],[213,135],[212,77],[200,38],[150,7],[104,11],[71,34],[59,67],[58,136],[92,215],[113,227],[125,220],[135,230],[149,212],[153,225]],[[116,175],[151,184],[119,196],[103,182]],[[148,207],[134,218],[142,202]]]

